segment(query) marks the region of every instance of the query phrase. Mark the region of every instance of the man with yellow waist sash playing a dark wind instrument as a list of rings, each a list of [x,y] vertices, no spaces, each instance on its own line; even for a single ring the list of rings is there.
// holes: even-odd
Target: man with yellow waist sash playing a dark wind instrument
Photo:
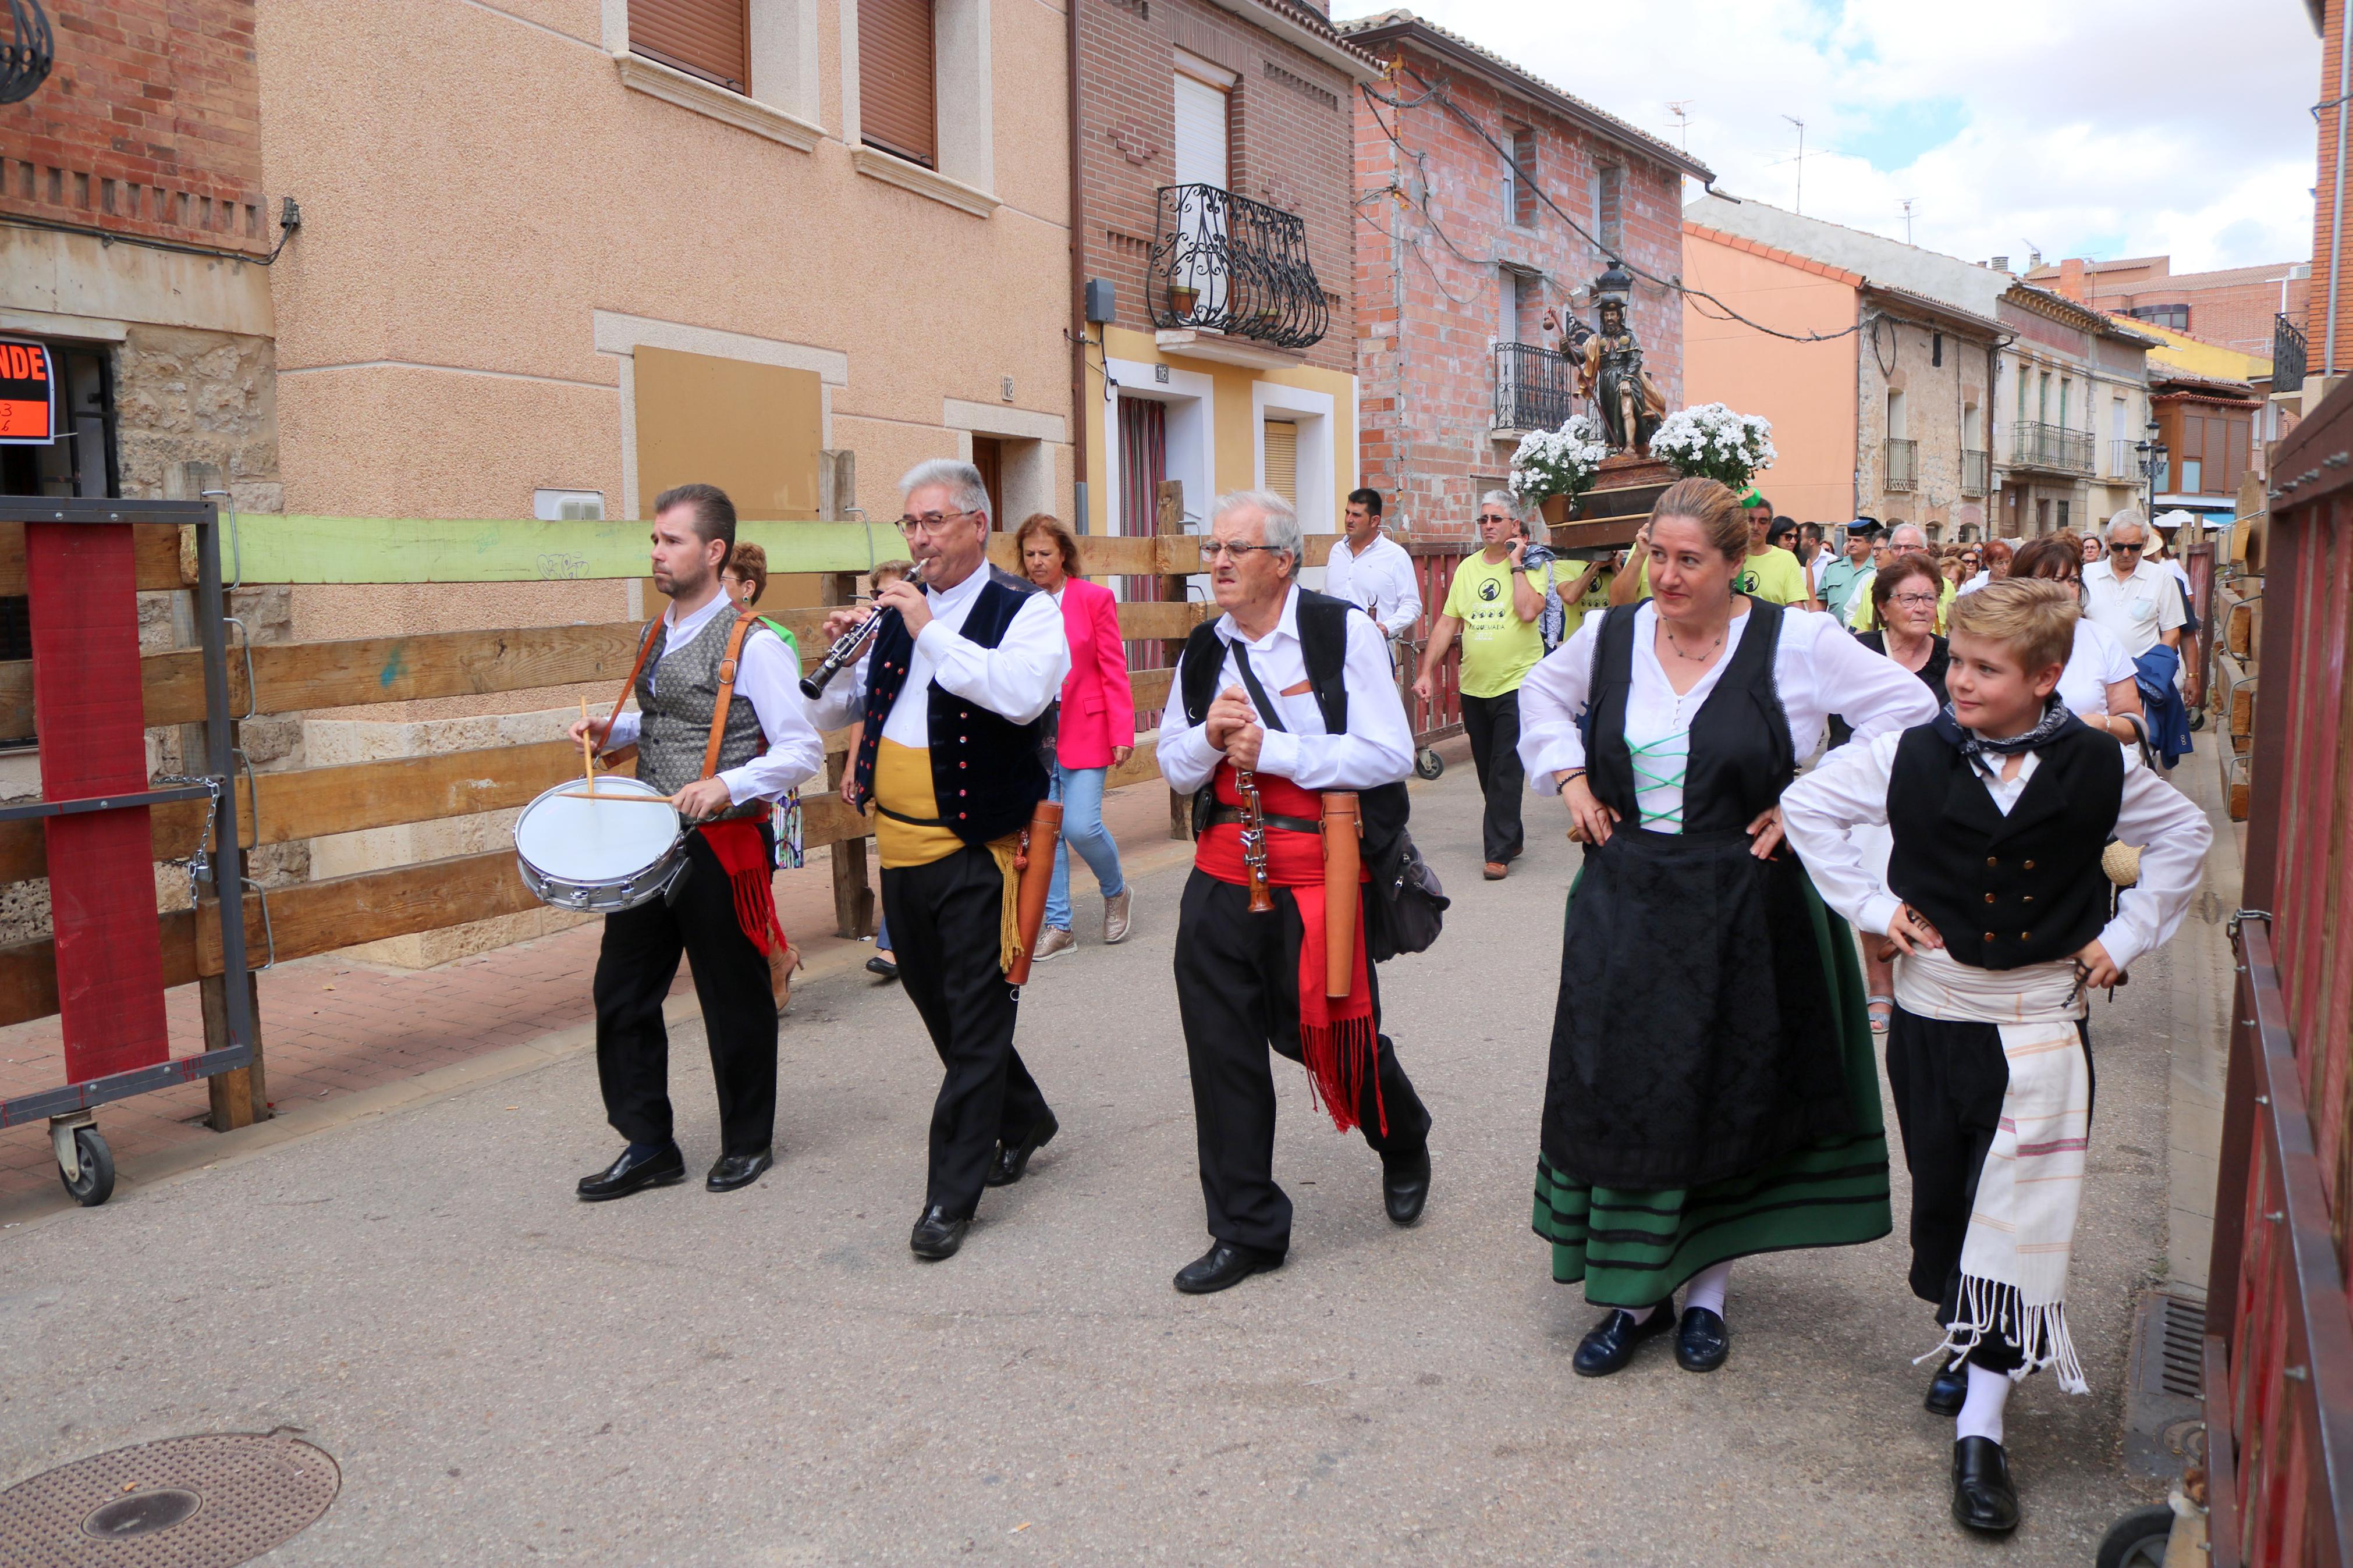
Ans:
[[[1005,931],[1019,835],[1047,797],[1040,719],[1071,672],[1071,642],[1052,597],[988,564],[988,489],[972,463],[918,463],[899,489],[922,585],[875,592],[878,611],[896,614],[812,717],[824,729],[864,719],[852,795],[875,806],[899,980],[946,1067],[908,1237],[936,1262],[962,1246],[981,1187],[1021,1180],[1061,1131],[1014,1051]],[[835,611],[826,635],[859,621]]]

